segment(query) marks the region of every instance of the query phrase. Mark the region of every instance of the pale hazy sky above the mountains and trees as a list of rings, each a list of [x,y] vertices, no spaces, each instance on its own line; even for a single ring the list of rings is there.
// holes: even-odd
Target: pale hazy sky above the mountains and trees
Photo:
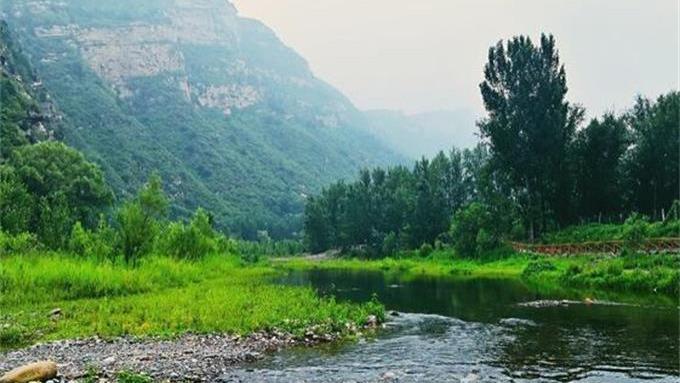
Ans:
[[[362,109],[483,112],[490,45],[555,35],[589,114],[678,88],[678,0],[235,0]]]

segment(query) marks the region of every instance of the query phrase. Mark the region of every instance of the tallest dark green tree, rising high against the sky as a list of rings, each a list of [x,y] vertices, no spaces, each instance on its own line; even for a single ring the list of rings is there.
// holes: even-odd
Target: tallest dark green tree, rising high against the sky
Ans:
[[[555,40],[525,36],[489,49],[480,84],[488,112],[480,122],[498,166],[520,198],[530,238],[551,219],[568,220],[568,148],[583,112],[566,101],[567,84]]]

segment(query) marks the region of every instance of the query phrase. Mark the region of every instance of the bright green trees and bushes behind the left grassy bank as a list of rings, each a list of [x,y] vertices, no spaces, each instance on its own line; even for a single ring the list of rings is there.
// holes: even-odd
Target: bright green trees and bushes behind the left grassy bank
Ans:
[[[210,212],[169,217],[169,199],[154,173],[119,206],[101,170],[55,141],[22,144],[0,156],[0,255],[32,250],[136,265],[152,254],[195,260],[233,252],[247,262],[261,255],[302,252],[297,241],[239,241],[214,229]]]

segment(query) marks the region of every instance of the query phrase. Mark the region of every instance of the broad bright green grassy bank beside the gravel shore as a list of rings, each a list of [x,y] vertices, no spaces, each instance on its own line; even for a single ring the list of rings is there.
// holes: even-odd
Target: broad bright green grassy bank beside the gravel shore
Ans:
[[[309,288],[274,285],[275,272],[227,255],[151,257],[137,267],[57,253],[0,258],[0,348],[93,335],[301,334],[314,325],[342,332],[347,322],[383,315],[377,303],[339,303]],[[55,308],[61,314],[50,316]]]

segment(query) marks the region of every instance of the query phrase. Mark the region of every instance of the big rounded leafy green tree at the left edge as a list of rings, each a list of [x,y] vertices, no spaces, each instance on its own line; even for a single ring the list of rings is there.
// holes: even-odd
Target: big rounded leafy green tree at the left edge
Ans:
[[[112,200],[101,170],[58,142],[15,148],[0,169],[0,196],[0,228],[52,248],[66,245],[75,222],[94,227]]]

